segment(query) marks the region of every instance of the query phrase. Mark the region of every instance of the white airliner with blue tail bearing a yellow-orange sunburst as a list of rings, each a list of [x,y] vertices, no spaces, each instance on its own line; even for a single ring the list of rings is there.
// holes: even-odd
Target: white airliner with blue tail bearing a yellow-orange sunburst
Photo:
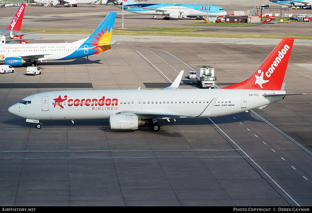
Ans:
[[[21,66],[31,61],[68,60],[109,50],[115,41],[110,42],[116,12],[110,12],[92,35],[73,43],[2,44],[0,61],[11,66]]]

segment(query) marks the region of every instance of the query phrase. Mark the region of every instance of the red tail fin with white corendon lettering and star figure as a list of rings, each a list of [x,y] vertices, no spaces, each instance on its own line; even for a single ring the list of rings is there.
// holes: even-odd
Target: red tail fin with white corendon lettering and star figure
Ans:
[[[294,38],[283,38],[249,79],[222,89],[280,90],[293,43]]]

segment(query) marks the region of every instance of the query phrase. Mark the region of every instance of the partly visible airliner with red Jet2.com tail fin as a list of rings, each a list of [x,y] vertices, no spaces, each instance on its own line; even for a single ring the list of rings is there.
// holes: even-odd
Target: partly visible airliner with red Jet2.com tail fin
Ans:
[[[6,42],[7,41],[23,41],[24,40],[22,39],[23,35],[36,33],[36,32],[26,33],[24,31],[21,31],[25,6],[26,4],[21,4],[17,12],[15,13],[15,16],[13,17],[9,27],[7,27],[7,29],[0,30],[0,35],[5,36]],[[43,32],[43,31],[37,31],[37,32]],[[28,39],[36,39],[36,38],[28,38]]]

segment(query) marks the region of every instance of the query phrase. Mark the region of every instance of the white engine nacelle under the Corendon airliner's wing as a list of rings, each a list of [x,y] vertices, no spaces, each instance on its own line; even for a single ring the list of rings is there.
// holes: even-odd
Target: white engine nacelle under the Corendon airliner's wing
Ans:
[[[133,115],[111,115],[109,122],[110,129],[137,129],[145,124],[144,120]]]

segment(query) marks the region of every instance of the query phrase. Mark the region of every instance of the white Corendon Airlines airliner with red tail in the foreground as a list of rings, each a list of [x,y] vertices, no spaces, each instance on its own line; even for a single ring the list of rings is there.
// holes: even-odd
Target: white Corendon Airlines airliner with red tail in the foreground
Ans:
[[[158,120],[230,115],[284,99],[283,80],[294,38],[284,38],[247,80],[222,89],[180,89],[183,71],[163,90],[80,90],[34,94],[8,111],[26,122],[109,119],[111,129],[137,129]],[[147,122],[146,122],[147,121]]]

